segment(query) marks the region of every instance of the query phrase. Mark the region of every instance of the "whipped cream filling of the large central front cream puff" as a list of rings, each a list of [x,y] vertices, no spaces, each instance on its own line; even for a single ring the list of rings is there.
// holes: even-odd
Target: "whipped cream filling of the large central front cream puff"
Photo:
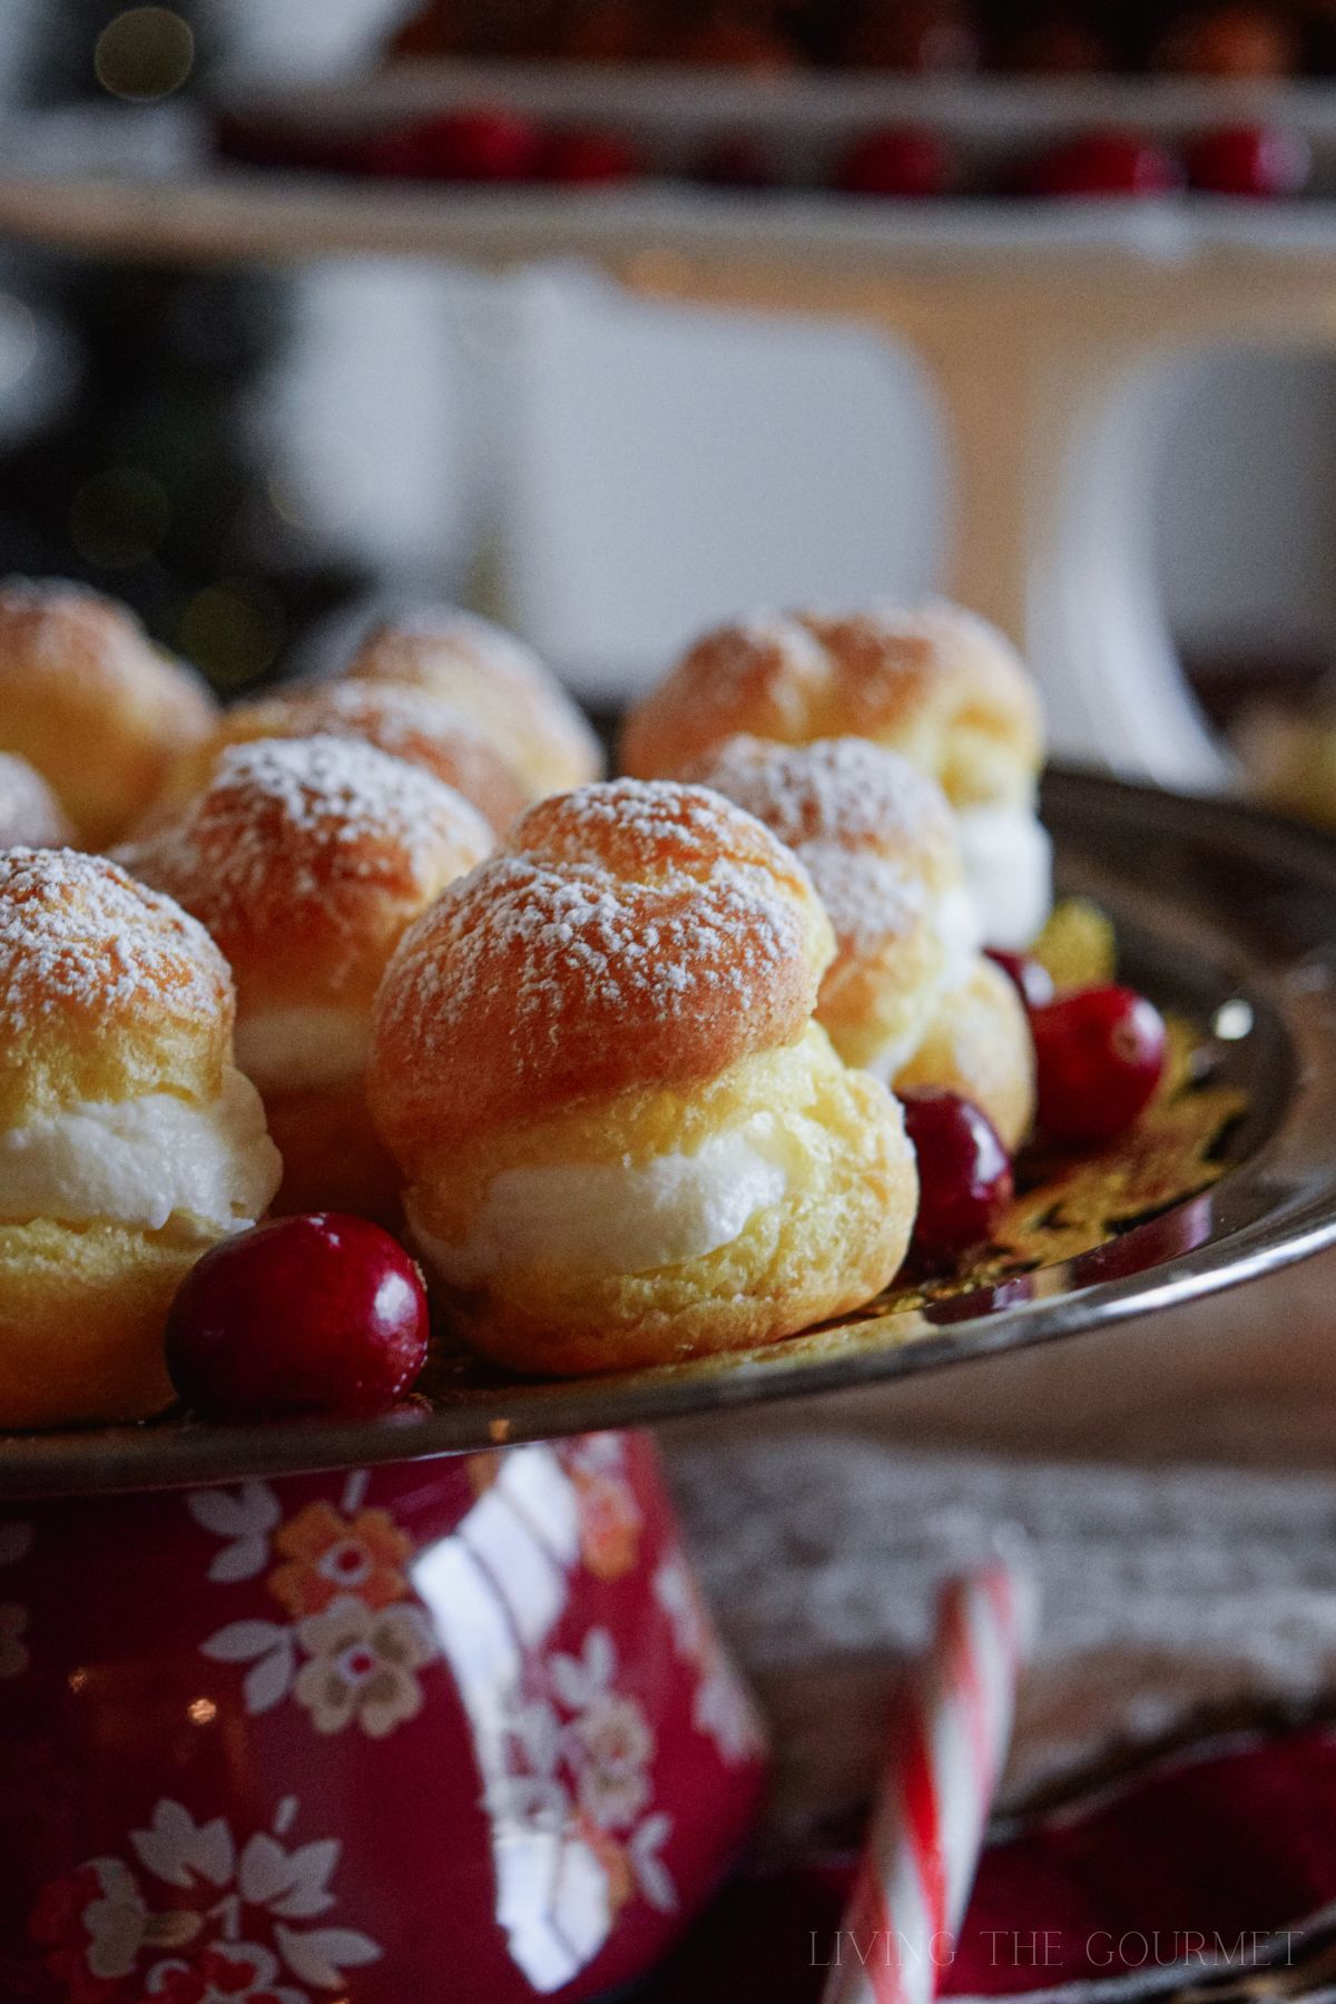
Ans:
[[[653,1273],[741,1238],[759,1210],[783,1198],[799,1152],[773,1114],[757,1114],[695,1154],[505,1168],[455,1244],[423,1228],[413,1194],[407,1210],[425,1259],[457,1287],[541,1261],[595,1275]]]

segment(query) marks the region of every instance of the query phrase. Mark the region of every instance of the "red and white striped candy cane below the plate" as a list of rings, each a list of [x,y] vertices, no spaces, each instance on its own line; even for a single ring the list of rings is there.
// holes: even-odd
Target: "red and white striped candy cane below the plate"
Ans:
[[[953,1954],[1036,1621],[1028,1573],[951,1579],[891,1733],[823,2004],[929,2004]]]

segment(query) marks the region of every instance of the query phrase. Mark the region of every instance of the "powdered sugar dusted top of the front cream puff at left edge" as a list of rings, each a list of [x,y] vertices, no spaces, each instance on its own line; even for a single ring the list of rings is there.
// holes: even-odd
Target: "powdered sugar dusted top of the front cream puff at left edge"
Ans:
[[[204,928],[114,862],[76,850],[0,854],[6,1032],[70,1010],[98,1020],[138,1008],[212,1014],[228,996],[226,962]]]

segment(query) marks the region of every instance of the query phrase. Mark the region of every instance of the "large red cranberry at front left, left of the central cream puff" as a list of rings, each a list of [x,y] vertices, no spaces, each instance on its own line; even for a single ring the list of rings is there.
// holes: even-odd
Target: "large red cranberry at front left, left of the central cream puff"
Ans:
[[[427,1359],[417,1267],[379,1224],[320,1212],[224,1238],[166,1323],[172,1385],[212,1419],[387,1411]]]

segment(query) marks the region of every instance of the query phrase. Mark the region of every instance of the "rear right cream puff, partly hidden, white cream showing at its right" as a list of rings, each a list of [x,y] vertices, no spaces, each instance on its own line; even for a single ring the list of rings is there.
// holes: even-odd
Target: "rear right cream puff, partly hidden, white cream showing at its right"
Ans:
[[[957,814],[989,946],[1030,946],[1044,926],[1044,717],[1020,655],[985,619],[933,601],[717,627],[631,711],[623,764],[643,778],[681,774],[739,733],[789,745],[869,737],[899,752]]]

